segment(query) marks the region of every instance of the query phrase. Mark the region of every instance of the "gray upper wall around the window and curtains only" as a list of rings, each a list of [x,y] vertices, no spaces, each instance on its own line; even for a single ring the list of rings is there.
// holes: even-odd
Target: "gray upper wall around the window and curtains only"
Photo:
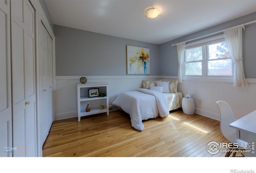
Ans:
[[[218,32],[232,26],[244,24],[256,20],[256,13],[225,22],[223,24],[190,34],[164,44],[160,44],[160,74],[163,76],[177,76],[178,75],[178,55],[177,46],[172,46],[179,42],[205,36],[214,32]],[[256,23],[247,25],[246,30],[243,31],[243,63],[244,74],[246,78],[256,78]]]

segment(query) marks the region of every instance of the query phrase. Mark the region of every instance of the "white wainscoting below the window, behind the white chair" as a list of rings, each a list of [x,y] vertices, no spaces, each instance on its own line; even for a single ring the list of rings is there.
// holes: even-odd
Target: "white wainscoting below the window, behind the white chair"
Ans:
[[[233,110],[235,119],[256,110],[256,79],[246,79],[248,87],[234,87],[233,83],[206,80],[183,80],[178,91],[186,95],[189,91],[194,98],[195,113],[220,120],[216,101],[226,101]],[[201,104],[199,101],[201,100]]]

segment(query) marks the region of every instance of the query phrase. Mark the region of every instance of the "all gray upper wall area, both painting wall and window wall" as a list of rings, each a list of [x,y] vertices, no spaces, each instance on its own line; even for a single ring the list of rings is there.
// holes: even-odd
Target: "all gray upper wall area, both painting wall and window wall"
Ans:
[[[150,75],[177,76],[177,47],[172,44],[253,20],[256,13],[160,45],[54,25],[56,75],[126,75],[126,45],[131,45],[150,48]],[[243,57],[246,78],[256,78],[256,24],[243,31]]]

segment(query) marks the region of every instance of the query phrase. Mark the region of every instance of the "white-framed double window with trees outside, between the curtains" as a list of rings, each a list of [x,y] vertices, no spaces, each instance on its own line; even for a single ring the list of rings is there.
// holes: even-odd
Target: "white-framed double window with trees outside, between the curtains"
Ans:
[[[232,77],[233,61],[223,36],[187,44],[184,52],[184,75]]]

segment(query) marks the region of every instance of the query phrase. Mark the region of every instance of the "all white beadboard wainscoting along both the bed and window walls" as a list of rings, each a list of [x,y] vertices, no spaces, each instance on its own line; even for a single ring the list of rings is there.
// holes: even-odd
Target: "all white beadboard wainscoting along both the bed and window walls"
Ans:
[[[77,117],[77,91],[82,76],[55,76],[55,120]],[[108,83],[108,97],[111,105],[118,93],[132,91],[142,87],[142,80],[158,80],[160,78],[176,79],[177,76],[85,76],[88,83]],[[195,100],[195,112],[220,120],[216,101],[227,101],[238,119],[256,110],[256,79],[246,79],[248,87],[234,87],[232,82],[216,82],[206,80],[183,80],[178,84],[178,91],[185,96],[188,91]],[[202,104],[199,104],[199,100]]]

